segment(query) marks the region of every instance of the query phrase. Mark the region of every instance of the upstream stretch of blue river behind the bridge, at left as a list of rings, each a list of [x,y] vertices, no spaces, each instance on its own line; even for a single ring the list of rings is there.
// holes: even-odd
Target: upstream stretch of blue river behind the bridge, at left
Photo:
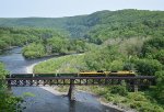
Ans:
[[[51,58],[49,56],[38,59],[25,59],[21,54],[21,47],[13,48],[12,51],[7,51],[3,55],[0,55],[0,61],[5,64],[5,68],[11,74],[27,72],[26,69],[28,66]]]

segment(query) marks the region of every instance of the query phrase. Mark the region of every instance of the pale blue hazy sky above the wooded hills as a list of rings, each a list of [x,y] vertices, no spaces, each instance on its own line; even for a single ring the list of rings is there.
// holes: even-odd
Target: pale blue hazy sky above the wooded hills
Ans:
[[[164,0],[0,0],[0,18],[61,18],[122,9],[164,11]]]

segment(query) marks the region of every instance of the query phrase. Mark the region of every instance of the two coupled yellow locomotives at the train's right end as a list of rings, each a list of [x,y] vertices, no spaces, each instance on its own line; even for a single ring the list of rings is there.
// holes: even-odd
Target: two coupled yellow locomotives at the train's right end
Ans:
[[[120,70],[120,71],[82,71],[79,72],[80,77],[109,77],[109,76],[136,76],[136,72],[132,70]]]

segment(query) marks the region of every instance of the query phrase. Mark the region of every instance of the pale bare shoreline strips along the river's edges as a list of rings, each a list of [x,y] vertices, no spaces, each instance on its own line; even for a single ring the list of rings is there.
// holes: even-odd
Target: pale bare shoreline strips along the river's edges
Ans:
[[[48,59],[47,59],[47,60],[48,60]],[[44,60],[44,61],[47,61],[47,60]],[[42,61],[32,64],[31,66],[26,67],[26,72],[27,72],[27,74],[33,74],[33,68],[34,68],[34,66],[36,66],[36,65],[39,64],[39,63],[42,63]],[[51,92],[51,93],[54,93],[54,94],[56,94],[56,96],[66,96],[66,94],[67,94],[67,92],[60,92],[60,91],[58,91],[58,90],[57,90],[58,87],[56,87],[56,86],[52,86],[52,87],[49,87],[49,88],[47,88],[47,87],[39,87],[39,88],[45,89],[45,90],[47,90],[47,91],[49,91],[49,92]],[[105,101],[103,101],[103,98],[101,98],[99,96],[97,96],[97,94],[95,94],[95,93],[93,93],[93,92],[87,92],[87,91],[83,91],[83,90],[75,90],[75,91],[90,93],[90,94],[94,96],[95,99],[96,99],[102,105],[106,105],[106,107],[108,107],[108,108],[116,109],[116,110],[118,110],[118,111],[120,111],[120,112],[136,112],[136,111],[132,110],[132,109],[125,109],[125,108],[122,108],[122,107],[120,107],[120,105],[113,104],[112,102],[105,102]]]

